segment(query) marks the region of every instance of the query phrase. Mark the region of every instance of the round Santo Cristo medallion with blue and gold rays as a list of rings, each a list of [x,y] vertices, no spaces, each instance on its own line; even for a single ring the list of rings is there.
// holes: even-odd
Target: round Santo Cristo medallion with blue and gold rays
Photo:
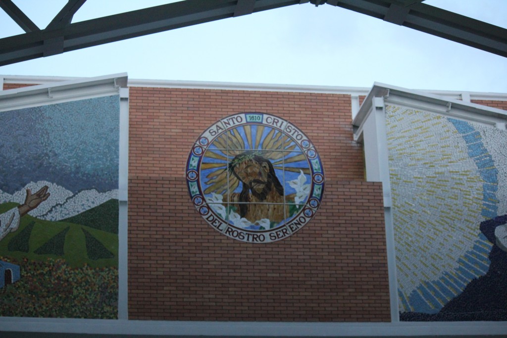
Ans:
[[[250,243],[300,230],[324,190],[313,143],[293,124],[262,112],[231,115],[207,128],[190,151],[186,177],[206,222]]]

